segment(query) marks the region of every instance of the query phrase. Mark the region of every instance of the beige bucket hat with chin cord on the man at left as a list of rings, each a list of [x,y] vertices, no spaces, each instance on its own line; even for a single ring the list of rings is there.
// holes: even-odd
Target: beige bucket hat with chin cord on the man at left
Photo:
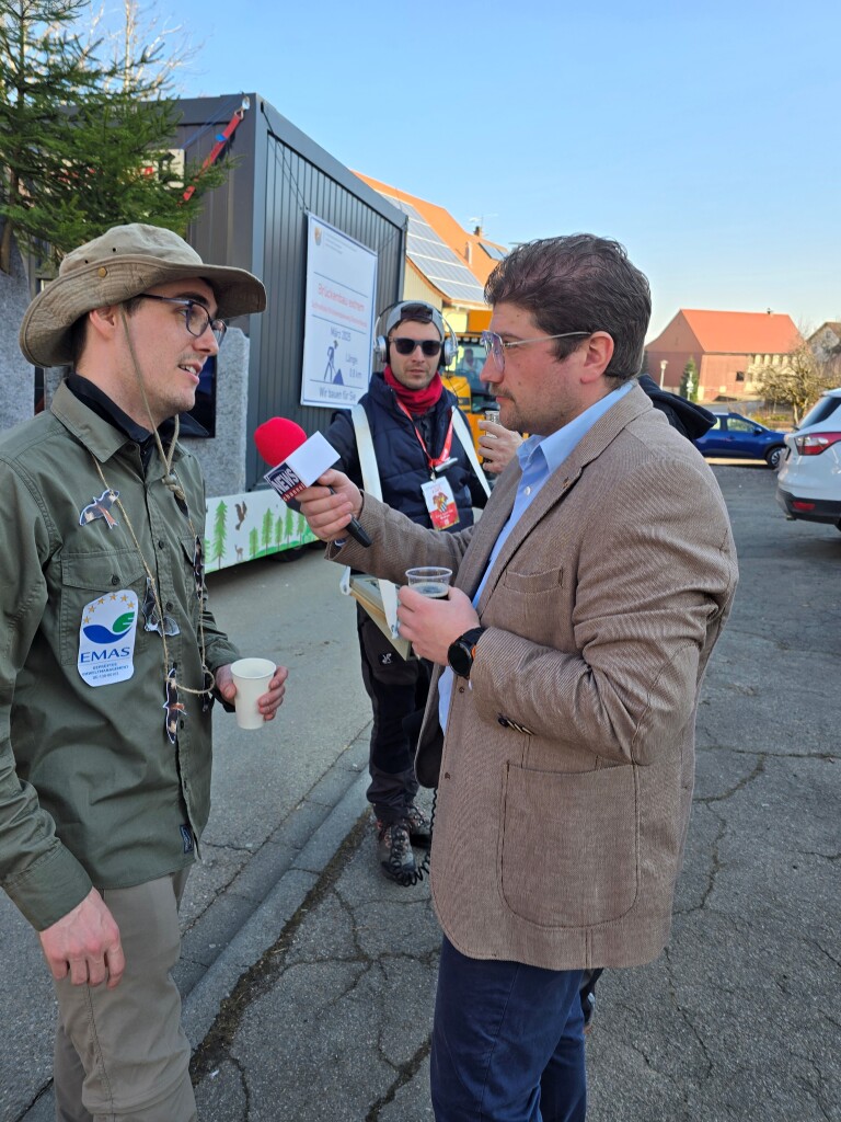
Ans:
[[[26,310],[20,349],[33,366],[68,366],[71,328],[80,316],[94,307],[121,304],[154,285],[191,277],[211,286],[220,319],[266,307],[266,289],[251,273],[205,265],[172,230],[133,222],[112,227],[67,254],[56,279]]]

